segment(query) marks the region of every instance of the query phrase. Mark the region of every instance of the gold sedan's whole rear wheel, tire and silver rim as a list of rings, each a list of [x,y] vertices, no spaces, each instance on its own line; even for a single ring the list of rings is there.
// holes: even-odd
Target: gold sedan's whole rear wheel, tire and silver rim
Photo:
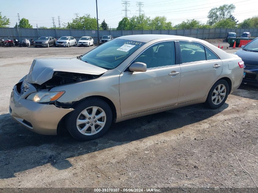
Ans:
[[[217,81],[210,89],[205,105],[212,109],[221,107],[227,100],[229,86],[226,80]]]

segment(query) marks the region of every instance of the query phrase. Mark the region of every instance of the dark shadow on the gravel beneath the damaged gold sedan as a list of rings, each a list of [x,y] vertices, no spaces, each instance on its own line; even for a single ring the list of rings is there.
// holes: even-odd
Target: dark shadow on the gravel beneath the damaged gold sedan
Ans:
[[[9,114],[0,115],[0,179],[47,163],[58,170],[72,166],[67,158],[175,130],[197,123],[228,107],[207,109],[202,104],[173,109],[111,125],[103,137],[93,141],[75,141],[69,134],[46,136],[35,134],[16,123]]]

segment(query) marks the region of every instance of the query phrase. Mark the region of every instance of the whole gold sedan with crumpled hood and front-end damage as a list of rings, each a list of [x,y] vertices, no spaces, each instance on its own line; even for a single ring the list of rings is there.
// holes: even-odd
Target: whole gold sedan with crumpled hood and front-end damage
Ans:
[[[126,38],[126,39],[125,39]],[[76,58],[35,59],[13,88],[9,112],[29,130],[78,140],[120,122],[182,106],[219,108],[244,63],[206,41],[172,35],[115,38]]]

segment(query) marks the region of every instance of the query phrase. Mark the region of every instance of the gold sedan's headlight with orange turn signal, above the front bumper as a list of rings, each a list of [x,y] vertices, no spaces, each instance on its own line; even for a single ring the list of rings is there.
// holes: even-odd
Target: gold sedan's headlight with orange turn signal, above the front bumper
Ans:
[[[60,98],[65,91],[60,92],[46,92],[46,91],[38,91],[31,93],[26,99],[34,102],[51,102]]]

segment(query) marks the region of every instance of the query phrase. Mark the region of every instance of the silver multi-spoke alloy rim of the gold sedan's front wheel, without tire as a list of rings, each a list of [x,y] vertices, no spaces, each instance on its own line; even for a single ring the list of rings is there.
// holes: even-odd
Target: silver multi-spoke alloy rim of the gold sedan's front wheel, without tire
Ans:
[[[106,123],[106,113],[97,106],[84,109],[76,120],[76,126],[84,135],[94,135],[103,129]]]

